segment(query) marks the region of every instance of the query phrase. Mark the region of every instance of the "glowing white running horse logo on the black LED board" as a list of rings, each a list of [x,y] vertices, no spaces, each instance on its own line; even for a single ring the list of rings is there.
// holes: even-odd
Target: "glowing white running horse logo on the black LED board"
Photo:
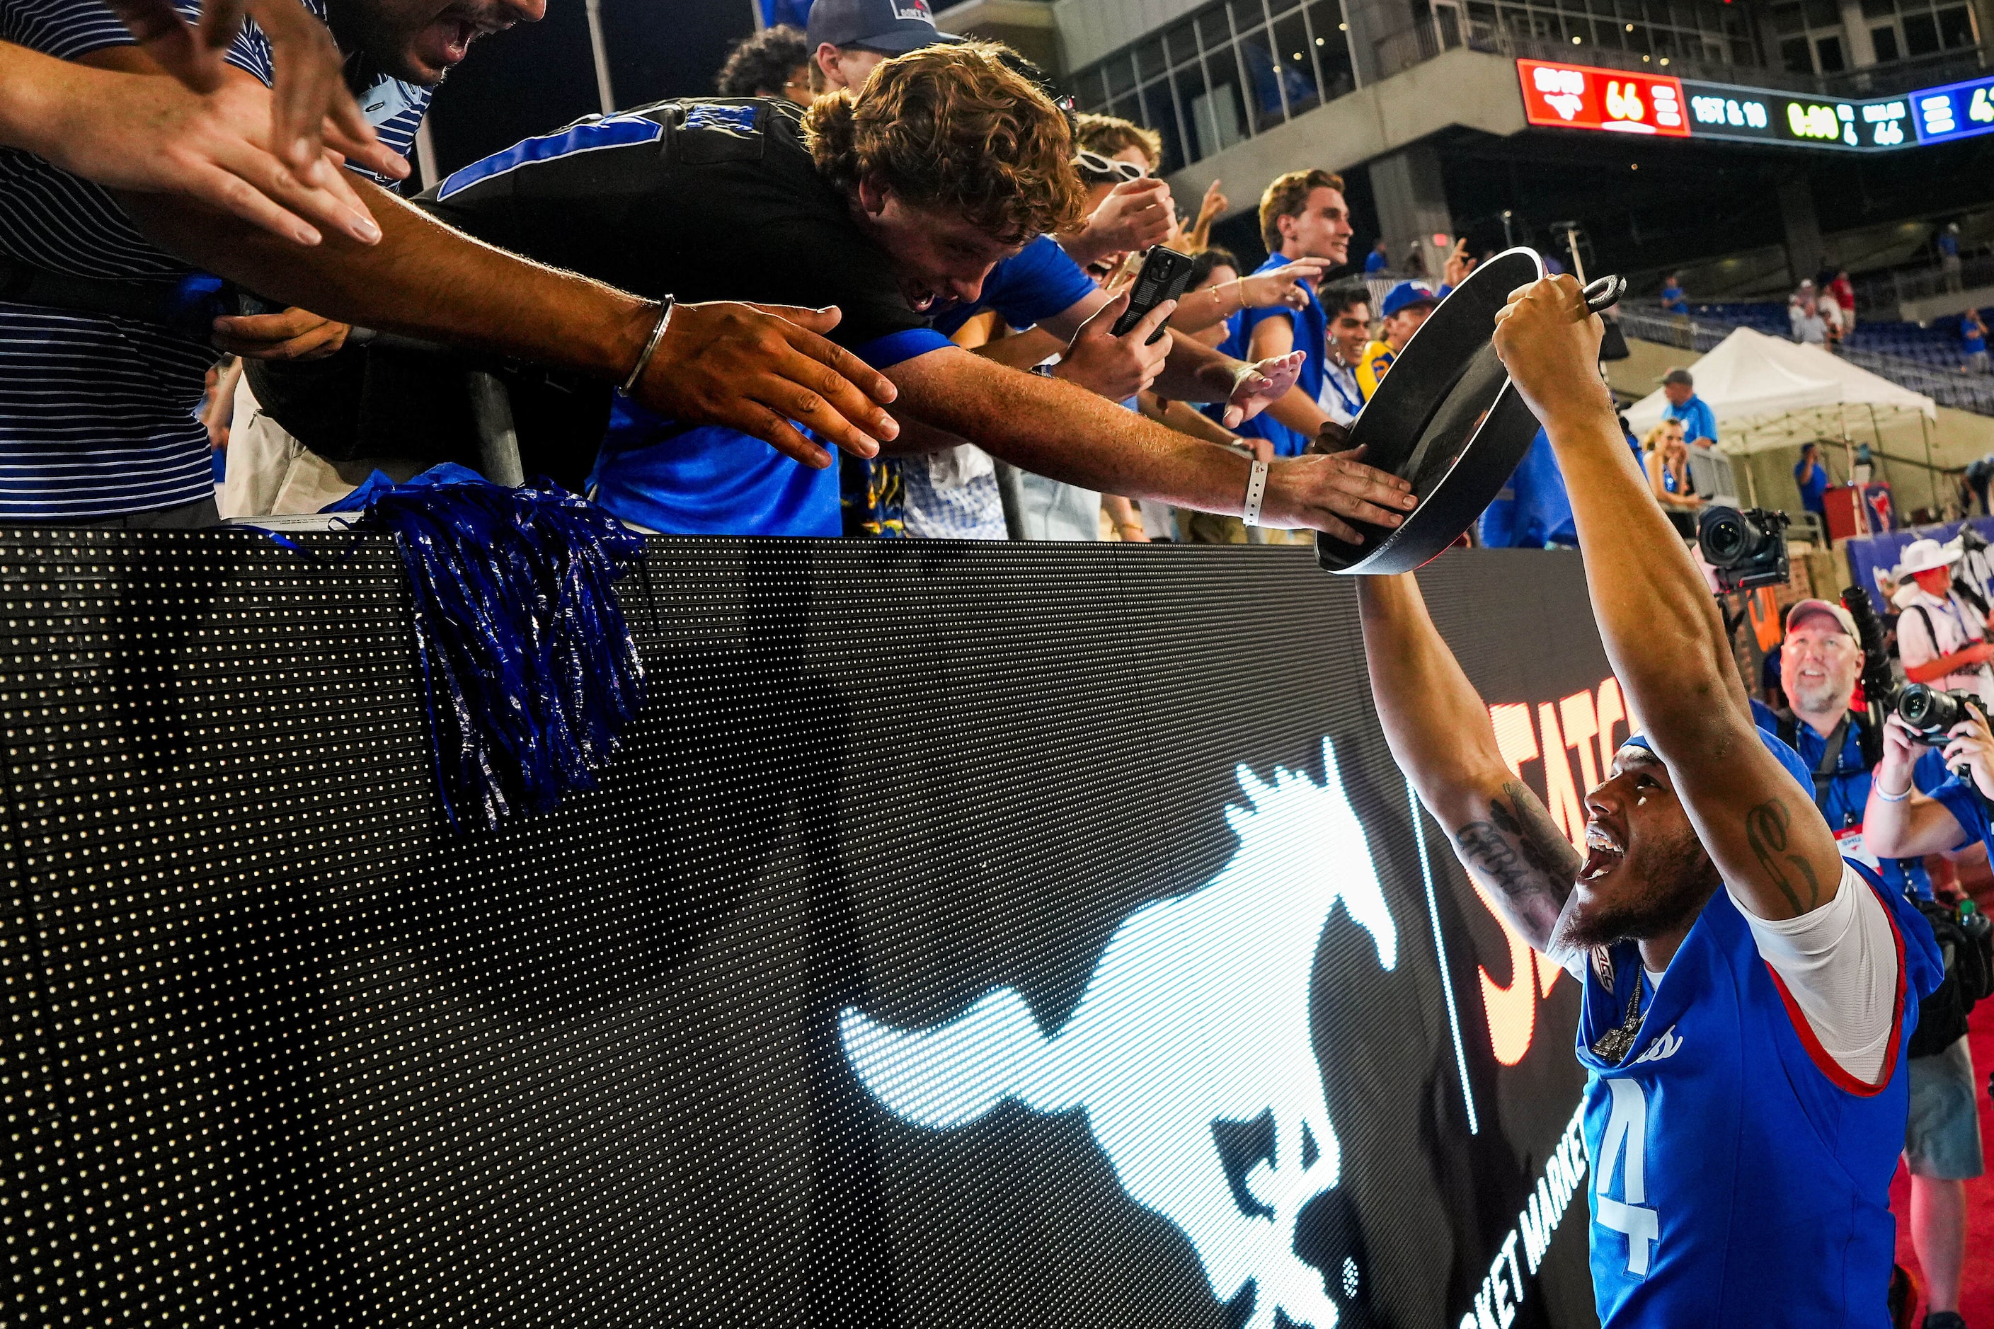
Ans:
[[[1057,1034],[1011,988],[927,1030],[841,1016],[867,1092],[915,1126],[969,1126],[1005,1098],[1085,1110],[1123,1190],[1182,1229],[1212,1295],[1232,1301],[1254,1283],[1254,1329],[1270,1329],[1276,1309],[1314,1329],[1338,1319],[1322,1271],[1294,1253],[1296,1217],[1340,1166],[1308,1032],[1310,968],[1336,903],[1370,930],[1384,968],[1398,962],[1328,739],[1322,759],[1324,785],[1238,767],[1250,803],[1226,807],[1238,853],[1196,891],[1129,915]],[[1254,1126],[1262,1140],[1244,1168],[1228,1142]],[[1348,1291],[1356,1277],[1346,1261]]]

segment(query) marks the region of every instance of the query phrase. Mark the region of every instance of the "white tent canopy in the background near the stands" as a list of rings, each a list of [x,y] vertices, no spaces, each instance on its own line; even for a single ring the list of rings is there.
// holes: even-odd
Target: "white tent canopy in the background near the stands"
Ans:
[[[1733,331],[1691,369],[1697,375],[1697,397],[1717,414],[1717,444],[1727,452],[1791,446],[1791,430],[1765,436],[1755,426],[1823,406],[1916,410],[1938,418],[1932,399],[1922,393],[1856,369],[1821,347],[1767,337],[1749,327]],[[1629,406],[1627,422],[1635,436],[1645,436],[1667,404],[1669,399],[1655,389]]]

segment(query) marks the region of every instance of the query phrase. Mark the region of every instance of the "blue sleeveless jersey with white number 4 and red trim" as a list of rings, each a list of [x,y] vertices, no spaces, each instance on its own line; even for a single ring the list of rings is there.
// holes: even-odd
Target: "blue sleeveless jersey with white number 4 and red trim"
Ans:
[[[1591,1160],[1593,1297],[1615,1325],[1888,1329],[1904,1148],[1904,1044],[1938,986],[1932,929],[1874,875],[1898,988],[1880,1086],[1836,1066],[1723,889],[1703,907],[1619,1064],[1591,1044],[1621,1024],[1641,954],[1585,966],[1579,1062]],[[1611,970],[1611,972],[1601,972]]]

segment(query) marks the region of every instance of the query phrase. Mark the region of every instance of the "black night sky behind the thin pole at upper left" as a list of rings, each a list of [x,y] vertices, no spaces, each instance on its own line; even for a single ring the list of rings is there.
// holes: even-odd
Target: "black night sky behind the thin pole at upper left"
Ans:
[[[754,0],[602,0],[616,104],[712,92],[728,46],[754,32]],[[437,92],[431,135],[445,171],[598,110],[582,0],[483,38]]]

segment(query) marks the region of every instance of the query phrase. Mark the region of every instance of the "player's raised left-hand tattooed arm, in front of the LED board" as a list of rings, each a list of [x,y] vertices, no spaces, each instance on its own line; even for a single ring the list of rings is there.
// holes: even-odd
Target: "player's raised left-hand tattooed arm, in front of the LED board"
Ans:
[[[1412,574],[1358,578],[1364,656],[1392,757],[1511,927],[1551,952],[1579,853],[1501,759],[1488,707]]]

